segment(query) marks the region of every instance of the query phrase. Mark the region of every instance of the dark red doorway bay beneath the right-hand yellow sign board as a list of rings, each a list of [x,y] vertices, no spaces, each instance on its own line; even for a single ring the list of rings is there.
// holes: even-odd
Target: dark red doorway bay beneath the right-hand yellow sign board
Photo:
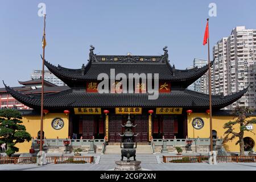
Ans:
[[[152,123],[153,138],[185,138],[186,126],[183,115],[154,115]]]

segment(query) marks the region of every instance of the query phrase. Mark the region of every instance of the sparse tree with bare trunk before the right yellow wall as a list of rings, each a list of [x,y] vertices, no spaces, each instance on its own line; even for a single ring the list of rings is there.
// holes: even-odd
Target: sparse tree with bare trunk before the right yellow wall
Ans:
[[[249,124],[255,124],[256,119],[247,119],[251,117],[251,113],[253,110],[249,109],[248,107],[236,107],[236,117],[234,117],[234,121],[229,121],[225,123],[224,129],[228,129],[225,131],[223,142],[226,143],[229,140],[233,140],[234,138],[238,137],[238,141],[236,142],[236,145],[240,144],[240,155],[245,155],[245,143],[243,142],[243,135],[245,131],[250,131],[253,133],[253,131],[247,129],[247,125]],[[240,132],[235,132],[235,126],[240,125]],[[255,133],[253,133],[255,134]]]

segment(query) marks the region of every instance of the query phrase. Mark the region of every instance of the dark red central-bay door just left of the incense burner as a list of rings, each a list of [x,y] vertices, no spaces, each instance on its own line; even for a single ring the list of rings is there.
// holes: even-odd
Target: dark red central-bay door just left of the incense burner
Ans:
[[[122,133],[122,115],[110,115],[109,117],[109,142],[121,142],[119,133]]]

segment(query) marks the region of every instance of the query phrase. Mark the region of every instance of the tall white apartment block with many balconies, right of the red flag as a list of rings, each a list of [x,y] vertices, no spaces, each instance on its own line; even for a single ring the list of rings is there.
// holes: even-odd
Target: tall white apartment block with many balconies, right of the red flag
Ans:
[[[250,85],[248,92],[227,109],[248,106],[255,109],[256,30],[245,26],[233,28],[230,36],[213,47],[213,94],[224,96]]]

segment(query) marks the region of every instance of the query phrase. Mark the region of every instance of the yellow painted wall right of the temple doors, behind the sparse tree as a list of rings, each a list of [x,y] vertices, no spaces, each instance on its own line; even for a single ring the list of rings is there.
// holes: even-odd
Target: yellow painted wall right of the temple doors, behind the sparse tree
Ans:
[[[202,118],[204,120],[204,127],[200,130],[195,129],[192,126],[192,121],[194,118]],[[251,117],[253,118],[253,117]],[[217,137],[218,138],[224,138],[224,133],[226,129],[223,128],[224,124],[229,121],[234,121],[233,116],[213,116],[212,117],[212,129],[217,131]],[[255,131],[255,125],[253,126]],[[236,132],[239,132],[239,126],[236,127]],[[192,113],[188,115],[188,138],[209,138],[210,137],[210,119],[209,115],[207,113]],[[250,137],[256,142],[256,135],[249,131],[245,131],[244,137]],[[239,144],[236,145],[238,138],[229,141],[224,144],[224,148],[226,151],[232,151],[232,152],[239,152],[240,147]],[[255,143],[254,148],[255,151]]]

